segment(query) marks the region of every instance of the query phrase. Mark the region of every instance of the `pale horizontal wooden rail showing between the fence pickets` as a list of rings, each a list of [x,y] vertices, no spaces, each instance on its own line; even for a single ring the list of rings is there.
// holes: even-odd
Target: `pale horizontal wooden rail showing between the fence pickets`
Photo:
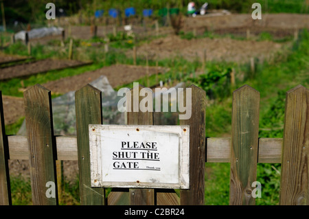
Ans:
[[[206,162],[229,163],[231,160],[231,138],[206,138]],[[8,136],[9,159],[29,159],[27,137],[22,135]],[[57,159],[60,161],[77,161],[76,136],[57,136]],[[258,163],[281,163],[282,138],[259,139]]]

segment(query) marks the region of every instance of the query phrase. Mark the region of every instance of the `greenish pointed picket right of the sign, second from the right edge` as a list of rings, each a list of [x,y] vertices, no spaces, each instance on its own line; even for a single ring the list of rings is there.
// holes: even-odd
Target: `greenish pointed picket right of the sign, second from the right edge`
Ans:
[[[255,205],[260,93],[244,85],[233,92],[230,205]]]

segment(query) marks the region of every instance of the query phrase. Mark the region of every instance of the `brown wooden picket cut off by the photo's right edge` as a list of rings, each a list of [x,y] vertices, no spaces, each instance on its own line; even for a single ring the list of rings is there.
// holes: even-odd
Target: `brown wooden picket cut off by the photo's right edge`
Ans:
[[[280,205],[309,205],[309,90],[286,92]]]

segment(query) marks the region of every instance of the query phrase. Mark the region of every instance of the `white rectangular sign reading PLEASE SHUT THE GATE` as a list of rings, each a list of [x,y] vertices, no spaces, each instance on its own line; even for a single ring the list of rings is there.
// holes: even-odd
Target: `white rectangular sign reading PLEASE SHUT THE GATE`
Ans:
[[[89,125],[92,187],[189,189],[189,126]]]

